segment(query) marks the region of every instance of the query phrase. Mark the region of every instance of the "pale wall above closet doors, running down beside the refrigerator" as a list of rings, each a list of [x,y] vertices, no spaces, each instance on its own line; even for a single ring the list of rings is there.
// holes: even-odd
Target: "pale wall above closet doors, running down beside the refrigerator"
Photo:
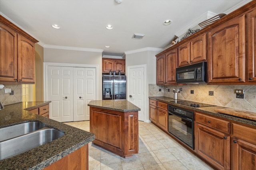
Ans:
[[[98,65],[98,99],[102,99],[102,52],[44,48],[44,63]]]

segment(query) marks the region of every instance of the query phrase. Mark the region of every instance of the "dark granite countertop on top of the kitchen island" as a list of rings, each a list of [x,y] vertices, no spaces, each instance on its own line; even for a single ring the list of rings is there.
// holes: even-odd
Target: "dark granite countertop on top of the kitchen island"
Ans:
[[[88,106],[121,112],[140,111],[139,107],[128,100],[92,100],[88,103]]]

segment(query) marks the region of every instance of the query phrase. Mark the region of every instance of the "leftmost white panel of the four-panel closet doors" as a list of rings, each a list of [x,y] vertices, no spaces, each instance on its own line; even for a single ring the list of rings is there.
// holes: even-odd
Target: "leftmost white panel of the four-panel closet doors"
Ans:
[[[61,91],[61,67],[48,66],[48,100],[50,103],[50,119],[61,121],[60,91]]]

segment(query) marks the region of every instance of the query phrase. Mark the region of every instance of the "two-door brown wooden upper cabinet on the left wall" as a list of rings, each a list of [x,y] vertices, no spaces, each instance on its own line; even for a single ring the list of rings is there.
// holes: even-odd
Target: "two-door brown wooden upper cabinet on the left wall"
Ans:
[[[35,42],[38,41],[0,15],[1,83],[35,82]]]

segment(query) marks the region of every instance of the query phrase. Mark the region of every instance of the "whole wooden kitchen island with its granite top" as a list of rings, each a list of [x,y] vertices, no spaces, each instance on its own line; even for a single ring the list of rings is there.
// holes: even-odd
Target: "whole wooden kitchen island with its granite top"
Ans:
[[[138,111],[127,100],[92,100],[90,132],[94,144],[123,158],[138,153]]]

